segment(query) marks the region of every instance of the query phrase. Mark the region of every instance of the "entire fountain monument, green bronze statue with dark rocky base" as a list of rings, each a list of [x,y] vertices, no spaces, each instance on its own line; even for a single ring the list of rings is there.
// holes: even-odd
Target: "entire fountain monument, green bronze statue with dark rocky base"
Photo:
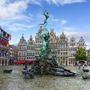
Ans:
[[[42,46],[40,48],[40,55],[36,56],[36,60],[32,65],[29,72],[33,72],[34,74],[39,75],[56,75],[56,76],[75,76],[75,73],[70,71],[67,68],[64,68],[56,61],[56,56],[49,57],[50,48],[49,48],[49,31],[46,28],[48,22],[48,18],[50,17],[48,14],[48,10],[44,11],[45,20],[44,23],[40,23],[39,25],[44,25],[42,32],[38,35],[42,39]]]

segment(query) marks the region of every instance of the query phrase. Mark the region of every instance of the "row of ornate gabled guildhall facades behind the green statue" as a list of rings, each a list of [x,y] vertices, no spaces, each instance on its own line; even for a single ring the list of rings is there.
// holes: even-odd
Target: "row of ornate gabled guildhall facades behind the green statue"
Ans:
[[[43,28],[42,26],[40,26],[38,32],[36,33],[35,40],[33,40],[32,35],[30,35],[29,40],[26,42],[24,36],[22,36],[18,44],[18,60],[35,60],[35,56],[38,56],[40,54],[42,40],[38,35],[42,32],[42,30]],[[70,41],[68,41],[64,31],[62,31],[60,37],[57,37],[53,29],[51,29],[49,34],[49,48],[51,49],[49,56],[57,56],[58,63],[62,63],[65,65],[74,65],[74,53],[76,52],[77,47],[86,47],[84,39],[81,37],[79,42],[77,43],[75,41],[75,38],[72,37]],[[22,47],[25,49],[21,50]],[[22,53],[24,53],[25,57],[22,56]]]

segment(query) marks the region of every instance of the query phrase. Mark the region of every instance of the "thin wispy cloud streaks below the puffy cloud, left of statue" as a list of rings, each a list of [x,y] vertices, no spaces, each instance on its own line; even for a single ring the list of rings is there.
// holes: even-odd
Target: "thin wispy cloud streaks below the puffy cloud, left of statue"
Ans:
[[[6,27],[6,30],[21,31],[34,27],[35,24],[33,25],[31,21],[33,21],[31,17],[18,15],[6,20],[1,20],[0,25]]]

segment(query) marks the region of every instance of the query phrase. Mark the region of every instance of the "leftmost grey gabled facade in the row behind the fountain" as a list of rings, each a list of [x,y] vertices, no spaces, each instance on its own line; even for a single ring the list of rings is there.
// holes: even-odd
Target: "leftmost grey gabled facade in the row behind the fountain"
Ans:
[[[27,42],[24,39],[24,35],[22,34],[22,37],[18,43],[18,60],[26,60],[26,50],[27,50]]]

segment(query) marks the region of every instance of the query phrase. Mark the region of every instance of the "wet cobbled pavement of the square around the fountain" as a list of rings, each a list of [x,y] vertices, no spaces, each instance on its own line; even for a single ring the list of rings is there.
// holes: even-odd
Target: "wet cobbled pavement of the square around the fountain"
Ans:
[[[0,66],[0,90],[90,90],[90,79],[82,79],[82,70],[77,66],[68,66],[76,71],[77,76],[63,77],[53,75],[35,75],[34,79],[25,79],[22,74],[24,66]],[[86,67],[90,70],[90,67]],[[12,69],[12,73],[3,73]],[[88,73],[90,74],[90,72]]]

